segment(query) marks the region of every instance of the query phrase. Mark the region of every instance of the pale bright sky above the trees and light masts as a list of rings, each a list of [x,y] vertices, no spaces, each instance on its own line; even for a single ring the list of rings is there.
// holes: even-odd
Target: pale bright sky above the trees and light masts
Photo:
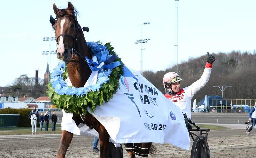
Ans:
[[[56,55],[42,51],[56,50],[55,41],[43,37],[55,36],[49,22],[53,3],[66,8],[68,1],[4,1],[0,25],[0,86],[12,85],[22,74],[44,78],[47,62],[50,71],[58,64]],[[111,42],[127,67],[140,71],[143,44],[143,70],[165,70],[177,63],[174,51],[175,0],[73,0],[78,10],[78,22],[89,27],[86,41]],[[255,0],[180,0],[178,2],[178,63],[207,52],[228,53],[255,50]],[[175,53],[175,54],[174,54]],[[217,59],[218,60],[218,59]]]

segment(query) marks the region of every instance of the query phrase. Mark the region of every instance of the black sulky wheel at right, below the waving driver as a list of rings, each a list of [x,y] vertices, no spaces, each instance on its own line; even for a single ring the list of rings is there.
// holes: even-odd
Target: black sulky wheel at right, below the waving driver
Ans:
[[[199,138],[201,139],[202,143],[204,144],[204,141],[205,141],[204,136],[199,135]],[[210,149],[209,149],[208,143],[206,144],[205,157],[203,157],[204,149],[200,143],[199,138],[196,137],[196,139],[192,145],[190,158],[210,158],[211,156],[210,156]]]

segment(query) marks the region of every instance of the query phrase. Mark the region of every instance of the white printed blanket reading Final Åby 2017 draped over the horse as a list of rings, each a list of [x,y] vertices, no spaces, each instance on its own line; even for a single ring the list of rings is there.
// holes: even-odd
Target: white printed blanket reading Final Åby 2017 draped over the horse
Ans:
[[[140,73],[130,70],[138,79],[121,77],[114,97],[90,112],[108,131],[114,143],[170,143],[189,150],[190,139],[180,108]],[[93,71],[85,86],[95,84],[98,71]],[[66,80],[71,85],[69,78]],[[63,111],[62,130],[98,138],[87,125],[76,126],[73,113]]]

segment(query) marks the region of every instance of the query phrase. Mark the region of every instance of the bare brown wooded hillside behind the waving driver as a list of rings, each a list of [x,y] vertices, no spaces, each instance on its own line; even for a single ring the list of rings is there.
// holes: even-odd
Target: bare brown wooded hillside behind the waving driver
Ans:
[[[254,99],[256,98],[256,53],[231,52],[213,54],[216,58],[212,64],[212,73],[209,82],[200,89],[192,98],[197,102],[205,95],[219,95],[221,90],[214,85],[229,85],[223,92],[225,99]],[[190,58],[178,65],[178,74],[182,81],[180,87],[190,86],[200,79],[207,61],[207,55],[198,58]],[[165,90],[162,84],[164,75],[168,72],[176,72],[176,66],[165,71],[145,71],[143,75],[153,83],[163,94]]]

